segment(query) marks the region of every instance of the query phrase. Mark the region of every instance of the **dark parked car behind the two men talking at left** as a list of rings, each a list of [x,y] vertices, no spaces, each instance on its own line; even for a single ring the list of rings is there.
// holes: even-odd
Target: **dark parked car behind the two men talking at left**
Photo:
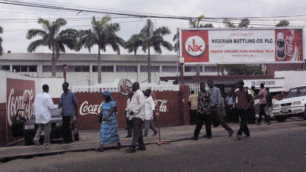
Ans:
[[[37,132],[38,124],[35,122],[35,115],[32,114],[29,119],[27,119],[27,114],[25,116],[20,116],[20,112],[24,111],[23,109],[19,109],[16,112],[15,120],[12,124],[12,134],[14,137],[23,137],[25,145],[33,144],[32,141]],[[59,115],[60,110],[51,110],[51,133],[50,140],[59,139],[62,137],[62,124],[63,119]],[[79,122],[76,117],[72,117],[72,140],[79,140]],[[40,137],[40,143],[44,142],[45,131],[42,132]]]

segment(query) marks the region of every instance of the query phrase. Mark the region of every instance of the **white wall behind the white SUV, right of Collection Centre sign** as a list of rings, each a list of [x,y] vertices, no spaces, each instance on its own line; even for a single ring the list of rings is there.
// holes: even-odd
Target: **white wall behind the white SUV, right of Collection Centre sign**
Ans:
[[[285,78],[286,91],[295,86],[306,85],[306,71],[275,71],[275,78]]]

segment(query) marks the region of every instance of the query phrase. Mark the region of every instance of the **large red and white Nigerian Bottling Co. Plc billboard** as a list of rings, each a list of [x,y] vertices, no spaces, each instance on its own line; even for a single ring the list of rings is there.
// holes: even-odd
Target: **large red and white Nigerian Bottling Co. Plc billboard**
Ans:
[[[186,64],[303,63],[304,28],[179,29]]]

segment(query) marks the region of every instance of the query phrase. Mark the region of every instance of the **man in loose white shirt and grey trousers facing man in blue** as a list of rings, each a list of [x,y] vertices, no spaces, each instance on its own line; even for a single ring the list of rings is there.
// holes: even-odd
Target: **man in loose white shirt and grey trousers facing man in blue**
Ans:
[[[43,85],[43,92],[36,95],[34,100],[34,114],[35,120],[38,124],[37,132],[33,142],[39,146],[40,134],[45,129],[44,145],[50,145],[50,132],[51,132],[51,112],[50,109],[58,108],[58,105],[54,105],[51,96],[48,94],[49,86]]]

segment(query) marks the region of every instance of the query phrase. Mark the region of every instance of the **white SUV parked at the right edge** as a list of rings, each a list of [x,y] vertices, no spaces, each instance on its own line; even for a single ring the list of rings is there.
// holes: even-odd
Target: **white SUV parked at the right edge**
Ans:
[[[273,105],[272,113],[277,122],[285,122],[288,117],[303,117],[306,120],[306,86],[293,87],[286,98]]]

